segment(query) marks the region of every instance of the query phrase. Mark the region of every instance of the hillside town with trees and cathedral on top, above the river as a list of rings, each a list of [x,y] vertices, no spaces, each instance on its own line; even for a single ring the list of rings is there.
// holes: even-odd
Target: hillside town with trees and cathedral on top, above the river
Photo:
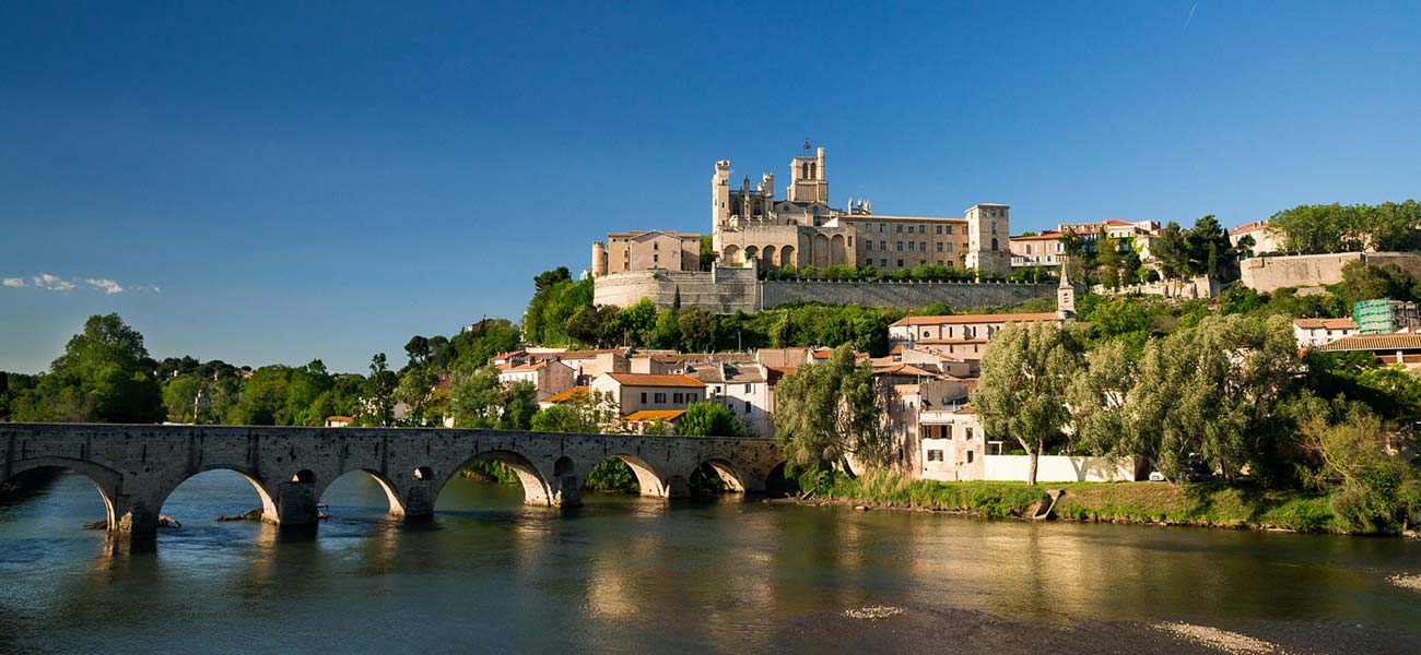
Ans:
[[[107,415],[58,400],[60,376],[11,374],[3,418],[743,435],[807,448],[801,472],[1296,485],[1285,471],[1319,465],[1299,411],[1322,398],[1334,421],[1390,421],[1368,438],[1412,452],[1415,201],[1012,235],[1002,203],[962,217],[831,207],[826,163],[824,147],[793,157],[780,198],[773,174],[732,189],[715,162],[710,234],[608,233],[581,279],[534,279],[520,323],[415,336],[399,370],[384,354],[368,376],[318,360],[146,370],[144,353],[125,366],[152,376],[152,398]]]

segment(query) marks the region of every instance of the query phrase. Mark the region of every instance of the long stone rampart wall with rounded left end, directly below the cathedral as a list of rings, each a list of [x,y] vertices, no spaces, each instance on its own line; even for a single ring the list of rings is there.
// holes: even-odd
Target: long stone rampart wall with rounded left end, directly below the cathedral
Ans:
[[[631,306],[649,298],[669,308],[681,292],[682,306],[716,313],[757,312],[790,302],[824,302],[875,308],[917,309],[946,302],[953,309],[1012,305],[1033,298],[1054,298],[1053,284],[1015,282],[757,282],[750,268],[716,268],[715,272],[641,271],[597,278],[594,302]]]

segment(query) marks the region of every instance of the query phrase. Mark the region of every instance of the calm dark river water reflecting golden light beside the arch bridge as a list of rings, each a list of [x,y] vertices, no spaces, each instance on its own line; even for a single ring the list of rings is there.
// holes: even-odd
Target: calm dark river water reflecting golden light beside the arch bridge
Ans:
[[[0,503],[0,651],[746,652],[787,622],[871,604],[1016,620],[1343,622],[1421,634],[1421,543],[1147,526],[983,522],[588,495],[563,513],[452,482],[432,523],[387,520],[362,474],[293,536],[250,522],[236,474],[186,482],[182,522],[125,552],[65,475]],[[780,637],[777,637],[780,635]]]

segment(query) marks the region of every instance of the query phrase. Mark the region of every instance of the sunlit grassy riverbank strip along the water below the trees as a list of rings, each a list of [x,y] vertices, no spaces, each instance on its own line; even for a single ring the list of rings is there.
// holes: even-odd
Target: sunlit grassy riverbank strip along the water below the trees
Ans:
[[[1047,502],[1047,489],[1064,489],[1056,517],[1114,523],[1161,523],[1235,529],[1343,532],[1330,498],[1290,489],[1256,489],[1219,483],[1165,482],[1042,483],[935,482],[871,472],[838,478],[820,498],[854,503],[961,512],[985,517],[1026,517]]]

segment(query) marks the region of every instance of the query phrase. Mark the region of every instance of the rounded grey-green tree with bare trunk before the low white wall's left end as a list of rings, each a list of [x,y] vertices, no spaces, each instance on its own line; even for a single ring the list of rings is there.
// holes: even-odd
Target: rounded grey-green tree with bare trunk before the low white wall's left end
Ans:
[[[1067,390],[1083,367],[1081,352],[1071,332],[1032,323],[1003,328],[982,353],[972,405],[988,435],[1016,440],[1030,455],[1030,485],[1042,452],[1066,441]]]

